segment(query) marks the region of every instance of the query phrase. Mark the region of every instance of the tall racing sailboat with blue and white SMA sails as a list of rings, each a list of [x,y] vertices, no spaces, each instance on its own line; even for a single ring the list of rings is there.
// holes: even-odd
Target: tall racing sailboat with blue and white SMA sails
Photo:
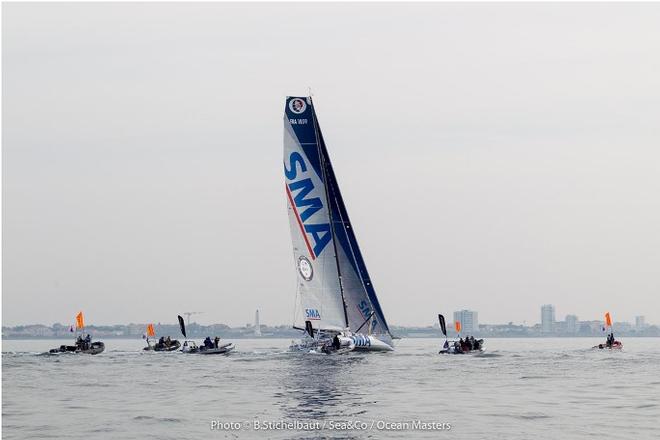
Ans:
[[[287,97],[284,176],[301,351],[391,351],[392,334],[360,252],[312,98]],[[304,326],[302,324],[304,323]]]

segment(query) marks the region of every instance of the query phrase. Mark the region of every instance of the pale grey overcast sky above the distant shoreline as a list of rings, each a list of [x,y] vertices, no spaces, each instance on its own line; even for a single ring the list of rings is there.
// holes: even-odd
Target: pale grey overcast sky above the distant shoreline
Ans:
[[[3,4],[3,324],[292,321],[311,86],[385,315],[660,322],[660,4]]]

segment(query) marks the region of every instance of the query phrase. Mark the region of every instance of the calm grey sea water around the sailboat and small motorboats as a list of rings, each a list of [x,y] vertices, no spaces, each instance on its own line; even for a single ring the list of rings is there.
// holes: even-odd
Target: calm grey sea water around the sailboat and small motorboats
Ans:
[[[391,353],[292,354],[239,339],[229,355],[43,355],[70,341],[3,341],[3,439],[659,438],[660,338],[489,339],[439,355],[440,339]]]

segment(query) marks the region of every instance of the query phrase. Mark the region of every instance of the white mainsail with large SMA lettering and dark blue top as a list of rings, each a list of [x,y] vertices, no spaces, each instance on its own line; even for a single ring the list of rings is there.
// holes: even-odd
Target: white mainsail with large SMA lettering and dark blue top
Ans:
[[[288,98],[284,176],[301,310],[296,324],[322,330],[347,326],[311,100]]]

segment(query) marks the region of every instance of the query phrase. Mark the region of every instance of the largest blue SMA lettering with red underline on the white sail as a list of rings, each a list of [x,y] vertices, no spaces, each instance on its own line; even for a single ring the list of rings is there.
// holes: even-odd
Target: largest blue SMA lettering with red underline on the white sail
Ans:
[[[312,196],[316,188],[310,177],[304,177],[307,170],[305,159],[297,151],[289,156],[289,167],[287,168],[287,164],[284,164],[284,175],[290,182],[286,185],[289,203],[295,212],[307,250],[314,260],[330,243],[332,233],[330,223],[311,223],[310,221],[314,214],[323,209],[323,201],[320,197]],[[299,176],[299,174],[301,175]]]

